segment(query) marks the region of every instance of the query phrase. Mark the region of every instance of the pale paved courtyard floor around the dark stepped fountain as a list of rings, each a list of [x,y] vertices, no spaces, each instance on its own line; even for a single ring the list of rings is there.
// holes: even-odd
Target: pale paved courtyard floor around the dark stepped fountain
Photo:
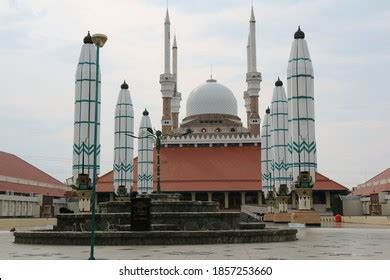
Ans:
[[[267,225],[274,226],[274,225]],[[298,229],[298,241],[284,243],[97,246],[98,259],[390,259],[390,226],[328,224]],[[87,246],[13,243],[0,231],[0,259],[87,259]]]

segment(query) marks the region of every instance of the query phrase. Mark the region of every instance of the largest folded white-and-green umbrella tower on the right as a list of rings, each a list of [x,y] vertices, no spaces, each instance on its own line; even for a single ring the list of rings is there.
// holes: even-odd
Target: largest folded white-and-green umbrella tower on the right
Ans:
[[[287,92],[289,113],[290,173],[296,188],[312,188],[317,170],[314,75],[305,33],[300,27],[294,34],[287,68]],[[310,175],[308,178],[307,176]],[[298,177],[299,176],[299,177]],[[311,209],[308,191],[299,197],[299,209]]]

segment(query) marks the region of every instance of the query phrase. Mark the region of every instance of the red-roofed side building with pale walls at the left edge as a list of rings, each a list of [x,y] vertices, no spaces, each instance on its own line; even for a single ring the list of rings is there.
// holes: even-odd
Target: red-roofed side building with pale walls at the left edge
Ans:
[[[52,217],[71,188],[20,157],[0,151],[0,217]]]

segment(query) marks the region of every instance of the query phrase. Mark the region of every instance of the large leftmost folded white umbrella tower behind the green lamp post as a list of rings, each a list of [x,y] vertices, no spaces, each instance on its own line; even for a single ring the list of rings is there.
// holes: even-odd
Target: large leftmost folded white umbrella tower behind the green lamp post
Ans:
[[[93,151],[95,130],[96,102],[96,47],[91,35],[84,38],[79,63],[76,71],[75,114],[73,134],[73,179],[79,188],[88,187],[89,183],[76,182],[80,174],[93,176]],[[97,174],[100,170],[100,73],[98,88],[98,123],[97,123]],[[83,184],[84,186],[81,186]]]

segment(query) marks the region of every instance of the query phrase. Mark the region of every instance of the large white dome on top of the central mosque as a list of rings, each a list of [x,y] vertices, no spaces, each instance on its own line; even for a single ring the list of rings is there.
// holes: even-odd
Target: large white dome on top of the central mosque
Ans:
[[[187,117],[202,114],[237,116],[237,100],[233,92],[213,79],[196,87],[187,99]]]

